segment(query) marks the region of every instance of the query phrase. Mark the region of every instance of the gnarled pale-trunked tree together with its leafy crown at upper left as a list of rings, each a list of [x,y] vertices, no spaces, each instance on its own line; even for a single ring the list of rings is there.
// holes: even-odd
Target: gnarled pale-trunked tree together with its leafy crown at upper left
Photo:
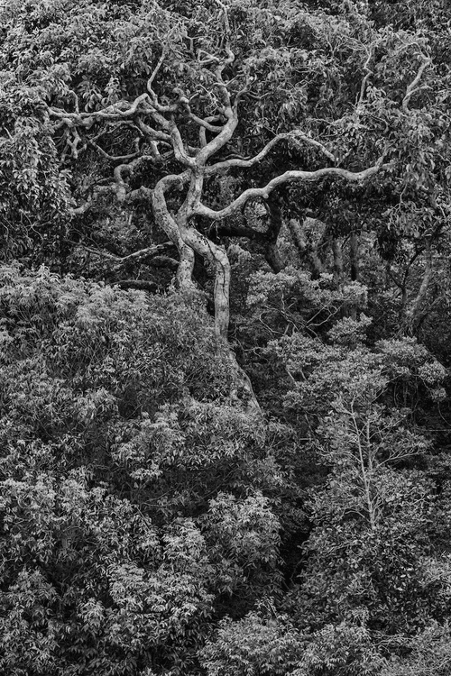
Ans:
[[[29,60],[21,79],[32,83],[34,90],[41,92],[49,102],[46,105],[48,124],[60,147],[63,164],[74,163],[77,171],[83,153],[96,151],[106,165],[114,167],[112,182],[102,181],[102,185],[98,185],[95,176],[89,180],[90,197],[74,207],[72,214],[86,215],[100,198],[108,196],[115,196],[120,205],[144,205],[177,247],[180,287],[192,287],[195,253],[213,265],[216,332],[223,336],[228,327],[230,265],[224,248],[207,236],[205,226],[202,232],[197,222],[202,219],[214,223],[223,221],[238,213],[250,200],[266,199],[273,190],[292,181],[308,183],[330,177],[361,182],[382,166],[381,158],[362,170],[334,166],[338,160],[333,153],[315,140],[310,130],[301,131],[299,125],[289,132],[276,133],[250,159],[244,159],[236,152],[233,143],[240,125],[240,106],[246,99],[262,100],[264,81],[271,81],[275,76],[271,72],[265,74],[265,70],[272,58],[278,65],[283,56],[283,50],[272,47],[277,37],[276,24],[280,21],[274,14],[276,8],[258,11],[250,5],[246,10],[245,19],[253,21],[260,31],[263,22],[271,20],[270,32],[262,36],[267,44],[262,63],[256,56],[260,45],[254,44],[253,51],[244,52],[240,34],[234,37],[232,23],[240,15],[237,5],[227,7],[214,2],[190,17],[185,15],[187,10],[178,12],[171,5],[146,3],[137,9],[126,6],[118,10],[114,7],[111,14],[105,8],[96,10],[88,4],[77,5],[77,9],[69,5],[69,14],[64,17],[59,16],[59,4],[45,10],[36,5],[32,15],[26,17],[14,4],[5,10],[6,19],[11,17],[9,23],[16,25],[22,33],[21,47],[26,54],[22,60],[25,63]],[[69,53],[61,49],[61,29],[67,35],[70,22],[77,16],[86,18],[87,14],[90,25],[96,17],[106,28],[102,57],[91,46],[92,41],[87,39],[84,31],[75,35]],[[55,15],[62,25],[50,23],[50,30],[43,32],[41,26],[53,20]],[[120,21],[124,16],[126,23],[123,25]],[[290,13],[286,21],[290,21]],[[117,36],[121,30],[124,31],[122,39],[126,36],[131,41],[126,53],[117,50]],[[149,31],[152,53],[149,51]],[[45,70],[43,64],[36,68],[30,62],[31,52],[35,49],[32,38],[38,32],[40,49],[47,55],[42,59],[49,60]],[[87,55],[80,56],[78,50],[86,39],[90,49]],[[157,49],[155,44],[159,45]],[[101,58],[105,59],[105,64],[98,81],[93,83],[94,62]],[[113,68],[107,82],[106,63]],[[127,71],[130,70],[133,81],[127,85]],[[290,73],[286,76],[287,86],[291,88],[291,96],[295,96],[299,83],[290,82],[291,77]],[[101,94],[101,85],[105,96]],[[243,107],[245,120],[249,103]],[[118,135],[123,146],[119,154],[113,139]],[[252,150],[253,144],[249,145]],[[314,161],[318,161],[316,158],[327,160],[329,166],[287,169],[263,187],[242,190],[222,208],[205,205],[209,186],[235,169],[253,169],[261,165],[281,145],[300,157],[309,153]],[[231,151],[234,156],[227,158]],[[294,160],[294,163],[298,162]],[[149,174],[151,185],[146,178]],[[177,196],[177,192],[181,195]],[[157,251],[144,253],[152,255]]]

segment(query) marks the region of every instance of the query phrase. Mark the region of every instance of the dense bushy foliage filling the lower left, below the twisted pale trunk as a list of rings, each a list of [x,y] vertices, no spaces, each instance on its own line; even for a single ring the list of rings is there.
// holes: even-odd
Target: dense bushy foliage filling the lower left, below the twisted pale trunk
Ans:
[[[2,671],[195,669],[279,587],[262,419],[201,304],[1,274]]]

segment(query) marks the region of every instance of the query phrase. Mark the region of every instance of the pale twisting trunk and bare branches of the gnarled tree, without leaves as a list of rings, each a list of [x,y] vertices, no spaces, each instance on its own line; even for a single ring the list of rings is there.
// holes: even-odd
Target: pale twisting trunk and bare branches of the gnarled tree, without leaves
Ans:
[[[226,62],[231,62],[232,54],[228,54]],[[189,110],[188,99],[179,92],[177,101],[169,105],[161,105],[158,102],[157,96],[152,90],[152,76],[148,83],[148,93],[138,96],[132,104],[127,102],[119,102],[116,105],[108,106],[103,111],[97,111],[92,114],[84,113],[66,113],[57,108],[50,108],[50,114],[57,117],[63,122],[68,123],[69,128],[78,124],[87,127],[96,120],[105,119],[107,121],[125,121],[130,123],[140,113],[146,114],[151,118],[160,129],[153,129],[148,123],[137,123],[137,129],[152,142],[155,151],[155,146],[158,142],[163,142],[165,146],[170,146],[173,151],[174,158],[185,168],[179,174],[173,174],[161,178],[157,185],[151,188],[141,188],[135,191],[136,193],[145,194],[152,203],[152,212],[157,224],[168,235],[170,241],[173,242],[179,251],[179,269],[177,272],[177,279],[180,288],[193,288],[192,273],[194,269],[194,252],[196,251],[203,260],[209,261],[213,264],[215,269],[215,325],[216,333],[226,338],[228,327],[228,304],[229,304],[229,287],[230,287],[230,265],[227,260],[226,251],[207,238],[206,235],[201,234],[194,227],[196,217],[204,216],[208,220],[216,222],[224,220],[228,216],[235,215],[241,211],[244,205],[252,199],[263,198],[269,200],[268,209],[272,218],[267,242],[267,258],[272,264],[272,268],[281,269],[281,260],[277,256],[277,234],[278,228],[281,224],[281,214],[277,211],[275,200],[271,200],[272,191],[277,187],[283,186],[294,181],[316,181],[325,176],[332,176],[337,178],[344,178],[348,181],[362,182],[367,178],[372,177],[377,171],[382,168],[382,160],[378,161],[373,167],[364,169],[360,172],[352,172],[346,169],[337,167],[326,167],[317,169],[315,171],[305,170],[290,170],[283,174],[272,178],[264,187],[253,187],[244,190],[244,192],[236,197],[228,206],[217,211],[202,204],[203,188],[205,178],[209,178],[218,174],[222,174],[227,170],[233,168],[246,169],[253,167],[266,158],[272,148],[280,142],[290,142],[292,145],[309,144],[318,149],[327,160],[335,160],[334,156],[327,151],[327,149],[314,139],[310,139],[301,132],[293,132],[291,134],[279,134],[271,142],[269,142],[260,153],[249,160],[231,159],[216,162],[216,164],[207,165],[207,161],[216,155],[234,135],[236,126],[238,124],[237,105],[239,96],[236,96],[235,103],[232,104],[230,95],[226,87],[226,83],[222,78],[222,71],[224,69],[224,62],[216,65],[217,87],[220,91],[220,96],[223,100],[222,116],[225,123],[220,125],[211,125],[207,121],[201,121],[196,115]],[[192,149],[187,148],[183,142],[177,124],[174,122],[174,113],[183,111],[190,115],[190,119],[194,123],[198,123],[202,129],[207,129],[210,132],[215,132],[216,136],[210,142],[203,142],[201,147],[195,154],[192,154]],[[167,119],[166,114],[170,115]],[[205,139],[205,137],[204,137]],[[155,160],[158,156],[158,148],[154,155],[146,155],[145,158],[134,156],[130,154],[128,163],[124,163],[124,155],[117,158],[111,157],[111,160],[119,160],[121,163],[115,167],[114,176],[115,183],[108,187],[102,187],[98,191],[98,195],[103,195],[106,192],[114,192],[115,196],[120,201],[125,201],[127,198],[128,184],[127,178],[133,176],[133,172],[139,167],[143,159]],[[171,214],[166,201],[166,194],[173,189],[181,189],[185,192],[185,199],[183,204],[179,207],[177,213]],[[128,195],[131,198],[131,195]],[[78,211],[85,213],[89,208],[88,205],[82,206]],[[318,268],[318,260],[314,263]]]

